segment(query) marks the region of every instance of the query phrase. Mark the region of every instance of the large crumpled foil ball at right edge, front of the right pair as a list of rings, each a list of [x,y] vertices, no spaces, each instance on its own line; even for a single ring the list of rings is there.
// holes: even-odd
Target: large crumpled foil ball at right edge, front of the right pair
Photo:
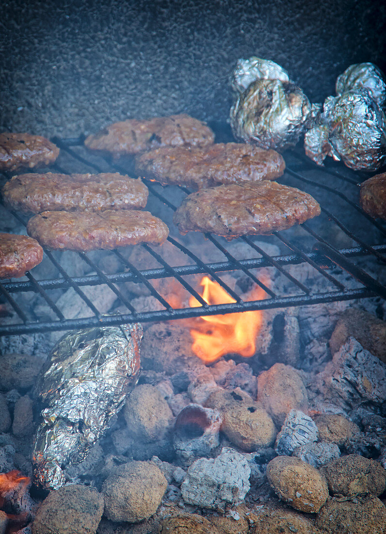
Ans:
[[[367,89],[326,98],[313,121],[304,150],[318,165],[327,155],[355,170],[377,170],[386,162],[386,117]]]

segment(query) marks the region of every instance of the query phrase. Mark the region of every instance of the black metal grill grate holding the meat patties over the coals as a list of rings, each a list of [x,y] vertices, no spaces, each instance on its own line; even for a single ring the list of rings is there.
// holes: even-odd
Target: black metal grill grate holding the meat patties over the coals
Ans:
[[[81,147],[83,144],[83,138],[77,138],[77,139],[55,139],[55,142],[58,146],[62,149],[62,159],[61,165],[64,167],[68,167],[68,169],[76,168],[76,162],[81,162],[82,166],[87,166],[86,168],[89,168],[91,172],[102,172],[101,167],[106,168],[106,164],[104,164],[103,160],[99,158],[93,159],[92,154],[90,153],[90,156],[87,155],[86,152],[84,152],[84,148]],[[78,147],[75,150],[72,150],[71,147]],[[86,155],[84,155],[86,154]],[[382,235],[386,235],[386,230],[384,227],[380,224],[374,221],[372,217],[369,217],[368,214],[366,214],[361,208],[357,205],[356,202],[353,202],[351,197],[347,197],[344,193],[341,193],[340,191],[336,191],[334,189],[334,185],[337,183],[337,180],[342,180],[342,183],[339,183],[339,187],[344,186],[344,184],[347,184],[348,186],[355,186],[357,187],[357,180],[354,180],[351,178],[353,176],[354,178],[359,175],[358,173],[355,174],[352,172],[350,177],[343,176],[339,174],[339,172],[335,172],[334,170],[327,169],[327,168],[320,168],[316,166],[315,163],[309,161],[308,159],[305,159],[305,157],[300,157],[296,153],[292,153],[294,158],[297,159],[298,163],[296,163],[296,160],[293,158],[293,168],[291,169],[291,165],[289,168],[287,167],[287,176],[286,178],[291,180],[291,182],[294,182],[295,180],[301,180],[301,182],[305,184],[309,184],[312,187],[320,188],[321,190],[332,193],[334,196],[329,195],[331,198],[327,198],[326,207],[329,208],[332,206],[334,208],[334,204],[332,203],[334,199],[341,201],[340,206],[344,203],[347,205],[347,207],[354,208],[356,210],[356,213],[360,213],[365,217],[363,219],[363,223],[367,224],[367,227],[369,229],[372,229],[368,223],[371,224],[371,226],[374,229],[379,230]],[[67,159],[65,159],[67,156]],[[72,160],[72,161],[71,161]],[[301,161],[299,161],[301,160]],[[94,162],[95,161],[95,162]],[[108,165],[108,169],[114,169],[114,171],[118,172],[124,172],[124,174],[131,174],[132,167],[126,166],[126,170],[123,167],[119,166],[119,164],[115,164],[114,161],[111,159],[104,158],[104,161]],[[61,166],[56,165],[54,167],[55,169],[59,169],[60,172],[65,172],[67,174],[67,171],[63,169]],[[320,182],[321,178],[323,178],[323,175],[321,173],[324,173],[325,176],[325,182],[319,183],[319,176],[315,172],[314,174],[310,174],[311,171],[318,171],[320,173]],[[111,170],[110,172],[112,172]],[[75,171],[76,172],[76,171]],[[309,175],[311,178],[306,178],[307,174],[306,172],[309,172]],[[334,180],[334,183],[333,183]],[[161,217],[163,218],[162,210],[166,207],[167,209],[175,210],[176,206],[173,203],[173,198],[170,200],[170,191],[168,188],[164,188],[160,184],[155,184],[149,180],[144,180],[146,185],[148,186],[149,193],[152,195],[153,200],[156,200],[159,203],[162,203],[160,208]],[[331,186],[332,185],[332,186]],[[191,191],[184,186],[179,186],[179,190],[183,194],[189,194]],[[321,191],[321,192],[323,192]],[[184,243],[185,241],[183,239],[179,239],[179,241],[168,238],[171,245],[178,248],[186,254],[189,258],[191,258],[194,262],[194,264],[191,265],[180,265],[172,267],[168,264],[166,257],[166,260],[164,260],[159,254],[157,254],[149,245],[143,245],[144,250],[147,250],[147,252],[154,257],[157,262],[159,263],[159,268],[156,269],[147,269],[147,270],[138,270],[135,268],[134,265],[131,264],[130,261],[126,260],[125,257],[119,253],[118,250],[113,251],[112,253],[115,254],[119,261],[123,263],[128,269],[128,272],[118,272],[114,274],[106,274],[102,272],[101,269],[98,268],[98,265],[95,265],[92,260],[90,260],[89,257],[85,256],[82,257],[82,260],[86,261],[88,265],[91,266],[93,269],[92,274],[87,274],[86,276],[82,277],[70,277],[65,270],[61,267],[60,262],[55,260],[55,257],[52,256],[50,253],[48,255],[49,260],[51,260],[51,263],[55,266],[57,269],[57,272],[62,276],[62,278],[58,279],[46,279],[46,280],[35,280],[34,278],[29,278],[27,281],[16,281],[16,282],[4,282],[2,283],[1,292],[5,295],[4,292],[6,292],[7,296],[9,297],[7,300],[10,302],[11,293],[15,292],[23,292],[23,291],[34,291],[42,294],[42,290],[44,292],[44,289],[55,289],[55,288],[68,288],[72,287],[77,294],[82,298],[82,300],[87,304],[87,307],[92,310],[94,313],[93,317],[89,318],[81,318],[81,319],[64,319],[64,320],[55,320],[55,321],[38,321],[38,318],[34,317],[34,315],[31,315],[33,317],[33,322],[26,315],[23,310],[19,309],[20,313],[18,314],[18,317],[23,321],[24,324],[16,324],[16,325],[5,325],[4,327],[0,327],[0,335],[5,334],[11,334],[11,333],[22,333],[22,332],[43,332],[43,331],[54,331],[54,330],[66,330],[70,328],[87,328],[93,325],[101,325],[101,324],[123,324],[126,322],[133,322],[133,321],[155,321],[155,320],[167,320],[167,319],[177,319],[177,318],[184,318],[184,317],[199,317],[202,315],[218,315],[222,313],[235,313],[240,311],[247,311],[247,310],[259,310],[259,309],[270,309],[270,308],[277,308],[277,307],[288,307],[288,306],[296,306],[296,305],[310,305],[310,304],[316,304],[319,302],[333,302],[336,300],[350,300],[350,299],[358,299],[368,296],[376,296],[376,295],[384,295],[383,292],[386,292],[386,288],[381,286],[379,282],[374,280],[369,274],[367,274],[365,271],[360,269],[357,265],[353,264],[351,261],[348,260],[350,257],[354,256],[363,256],[365,254],[371,253],[373,256],[377,257],[381,261],[385,261],[382,257],[381,253],[386,252],[386,245],[384,244],[370,244],[365,241],[361,241],[359,238],[356,238],[355,230],[353,230],[354,233],[350,230],[350,224],[351,221],[346,227],[347,223],[345,222],[345,219],[343,219],[344,224],[340,222],[339,218],[335,215],[332,215],[329,213],[328,210],[322,206],[322,209],[324,209],[324,215],[330,216],[332,224],[336,224],[338,227],[341,228],[341,230],[347,235],[350,239],[353,240],[353,242],[356,242],[358,246],[354,246],[351,248],[342,248],[340,250],[337,250],[334,248],[334,246],[330,245],[327,241],[325,241],[323,238],[321,238],[316,232],[313,232],[308,226],[303,225],[304,230],[308,232],[313,239],[316,240],[317,246],[314,246],[314,249],[310,252],[303,252],[303,250],[299,247],[296,247],[292,244],[292,233],[291,230],[286,231],[285,237],[282,237],[282,234],[276,235],[275,239],[279,239],[280,241],[280,250],[283,249],[284,246],[288,247],[288,253],[286,251],[283,255],[278,255],[271,257],[269,254],[265,253],[264,250],[262,250],[258,245],[256,245],[249,237],[243,236],[241,239],[252,249],[256,250],[256,252],[259,253],[259,258],[247,258],[245,260],[239,260],[237,255],[232,255],[228,252],[228,250],[225,248],[225,246],[222,246],[222,241],[220,238],[218,238],[216,235],[207,234],[205,237],[210,240],[210,247],[216,247],[216,249],[220,250],[220,252],[224,255],[227,261],[222,262],[212,262],[212,263],[204,263],[197,257],[193,252],[190,251],[189,247],[186,247],[182,245],[179,241]],[[22,224],[26,224],[25,218],[23,219],[18,214],[13,213],[13,215],[17,218],[19,222]],[[367,222],[366,222],[367,221]],[[352,223],[355,224],[355,219],[352,219]],[[314,225],[315,223],[311,224],[312,227],[317,227]],[[352,226],[354,229],[355,227]],[[364,226],[364,230],[366,229],[366,226]],[[323,233],[323,232],[322,232]],[[361,235],[361,234],[360,234]],[[374,234],[375,235],[375,234]],[[364,239],[366,241],[370,241],[366,234],[364,233]],[[281,238],[281,239],[280,239]],[[273,238],[272,238],[273,239]],[[374,238],[372,239],[374,241]],[[295,240],[297,243],[297,241]],[[301,245],[300,245],[301,246]],[[375,252],[375,254],[374,254]],[[80,253],[81,255],[83,253]],[[296,280],[294,276],[287,273],[284,269],[285,265],[294,265],[294,264],[300,264],[303,262],[307,262],[310,264],[313,268],[316,269],[315,273],[320,274],[319,281],[321,280],[320,289],[318,289],[318,292],[312,294],[311,289],[309,289],[305,284],[302,284],[299,280]],[[343,269],[344,271],[348,272],[351,280],[358,280],[360,284],[363,284],[365,287],[357,287],[357,285],[354,285],[355,289],[347,289],[344,287],[344,285],[339,281],[336,280],[334,276],[332,276],[331,273],[325,272],[326,269],[332,268],[333,266],[338,266],[339,268]],[[261,267],[270,267],[275,268],[277,270],[277,273],[282,274],[285,276],[289,281],[292,282],[292,284],[295,286],[295,288],[298,288],[299,290],[291,290],[291,293],[295,293],[295,295],[289,294],[289,296],[283,296],[283,295],[277,295],[274,291],[272,291],[269,287],[264,286],[263,282],[260,282],[258,276],[254,274],[255,271],[250,272],[250,269],[259,269]],[[240,299],[236,293],[232,292],[231,288],[221,280],[219,277],[219,273],[224,271],[235,271],[239,270],[244,272],[250,279],[254,281],[255,284],[258,284],[260,287],[262,287],[267,295],[270,295],[267,299],[264,299],[263,301],[243,301]],[[203,298],[196,292],[196,290],[187,282],[184,280],[183,277],[186,277],[191,274],[208,274],[209,276],[212,276],[212,278],[227,291],[228,294],[230,294],[236,302],[232,302],[229,304],[222,304],[222,305],[208,305]],[[257,273],[258,275],[259,273]],[[179,283],[187,290],[187,292],[194,296],[195,299],[201,304],[199,307],[193,307],[193,308],[181,308],[181,309],[173,309],[170,304],[167,303],[167,301],[160,295],[157,290],[152,286],[151,280],[152,279],[163,279],[163,278],[169,278],[172,277],[179,281]],[[324,279],[329,280],[332,282],[334,286],[334,290],[329,290],[326,292],[323,292],[323,283]],[[141,282],[145,287],[147,287],[150,291],[150,294],[155,297],[155,299],[162,304],[164,307],[163,310],[151,310],[149,312],[136,312],[133,308],[133,306],[130,304],[127,298],[125,298],[124,294],[121,293],[120,289],[118,287],[115,287],[114,284],[124,283],[127,281],[135,281],[135,282]],[[307,283],[307,281],[305,281]],[[355,282],[354,282],[355,283]],[[87,299],[87,296],[82,292],[80,289],[80,286],[84,285],[100,285],[100,284],[106,284],[116,295],[117,297],[127,306],[128,313],[122,316],[112,315],[112,316],[102,316],[100,312],[95,308],[93,303],[90,301],[90,299]],[[299,291],[302,293],[299,294]],[[233,294],[232,294],[233,293]],[[288,294],[288,293],[287,293]],[[44,299],[46,300],[46,297],[48,295],[42,295]],[[7,297],[5,297],[7,298]],[[12,299],[13,300],[13,299]],[[46,300],[47,302],[47,300]],[[52,301],[51,301],[52,302]],[[17,302],[14,301],[14,303],[18,306]],[[14,307],[13,307],[14,308]],[[50,308],[52,308],[50,306]],[[159,307],[158,307],[159,308]],[[33,313],[33,312],[32,312]]]

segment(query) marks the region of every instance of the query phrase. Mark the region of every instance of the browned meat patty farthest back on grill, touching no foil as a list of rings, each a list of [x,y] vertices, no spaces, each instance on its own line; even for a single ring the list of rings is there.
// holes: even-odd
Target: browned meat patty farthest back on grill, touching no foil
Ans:
[[[214,133],[205,122],[182,114],[155,117],[148,121],[130,119],[116,122],[87,137],[84,144],[92,150],[120,158],[160,146],[202,146],[213,141]]]

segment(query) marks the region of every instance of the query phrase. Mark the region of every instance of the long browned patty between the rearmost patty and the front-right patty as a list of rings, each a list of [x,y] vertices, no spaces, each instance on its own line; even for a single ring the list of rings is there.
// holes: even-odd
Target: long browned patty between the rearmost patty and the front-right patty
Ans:
[[[274,150],[244,143],[202,148],[163,147],[136,157],[136,172],[162,184],[195,189],[220,184],[259,182],[282,176],[284,159]]]

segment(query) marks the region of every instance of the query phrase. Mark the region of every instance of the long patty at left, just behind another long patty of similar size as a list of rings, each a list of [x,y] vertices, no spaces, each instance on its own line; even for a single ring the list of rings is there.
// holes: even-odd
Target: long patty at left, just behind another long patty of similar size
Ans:
[[[3,187],[7,206],[24,213],[100,209],[140,209],[148,188],[140,179],[116,173],[21,174]]]

